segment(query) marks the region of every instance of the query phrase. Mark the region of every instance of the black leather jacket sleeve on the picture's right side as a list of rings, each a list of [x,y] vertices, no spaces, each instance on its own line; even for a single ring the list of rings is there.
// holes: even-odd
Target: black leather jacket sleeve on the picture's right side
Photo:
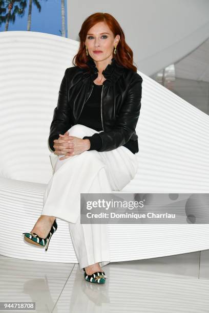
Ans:
[[[82,139],[89,139],[89,150],[99,152],[110,151],[126,144],[135,132],[141,108],[142,81],[140,75],[136,75],[130,84],[128,94],[119,110],[114,127],[109,131],[94,133]],[[99,140],[100,139],[100,140]]]

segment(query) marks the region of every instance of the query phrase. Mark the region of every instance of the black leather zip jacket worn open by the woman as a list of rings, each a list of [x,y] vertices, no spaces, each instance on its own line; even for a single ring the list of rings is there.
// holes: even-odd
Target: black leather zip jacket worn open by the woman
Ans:
[[[90,70],[78,66],[67,68],[62,78],[57,106],[50,126],[49,146],[54,151],[54,139],[77,124],[83,105],[93,89],[98,76],[94,60],[87,61]],[[142,77],[124,68],[112,58],[102,72],[106,80],[101,92],[101,121],[103,131],[95,133],[102,140],[98,151],[116,149],[129,140],[138,140],[135,128],[141,108]]]

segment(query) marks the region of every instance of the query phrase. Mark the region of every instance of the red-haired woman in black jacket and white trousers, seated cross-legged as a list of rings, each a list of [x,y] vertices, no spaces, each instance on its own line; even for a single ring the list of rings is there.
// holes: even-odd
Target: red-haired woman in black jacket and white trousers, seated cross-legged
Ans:
[[[92,14],[79,37],[75,66],[65,71],[50,126],[53,176],[41,216],[24,238],[47,250],[56,217],[67,220],[85,279],[104,283],[101,266],[110,263],[107,225],[80,223],[80,193],[122,190],[134,178],[142,78],[112,15]]]

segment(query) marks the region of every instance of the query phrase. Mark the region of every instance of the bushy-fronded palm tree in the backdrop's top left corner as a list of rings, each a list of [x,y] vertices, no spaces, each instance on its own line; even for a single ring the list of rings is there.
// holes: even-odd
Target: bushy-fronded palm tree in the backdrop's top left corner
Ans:
[[[25,8],[27,6],[26,0],[5,0],[5,7],[8,8],[8,12],[3,16],[3,21],[5,23],[5,31],[8,31],[9,22],[12,24],[15,22],[16,14],[23,17],[25,14]]]

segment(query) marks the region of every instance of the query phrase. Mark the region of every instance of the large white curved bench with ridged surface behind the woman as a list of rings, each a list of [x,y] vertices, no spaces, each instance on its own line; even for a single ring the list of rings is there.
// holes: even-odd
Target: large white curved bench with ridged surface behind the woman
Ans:
[[[27,31],[1,32],[0,39],[0,254],[77,263],[68,222],[57,219],[47,253],[26,244],[22,233],[32,229],[43,209],[52,175],[47,139],[53,109],[79,43]],[[121,192],[207,193],[209,116],[138,73],[143,78],[139,169]],[[209,249],[207,224],[112,224],[109,235],[112,262]]]

